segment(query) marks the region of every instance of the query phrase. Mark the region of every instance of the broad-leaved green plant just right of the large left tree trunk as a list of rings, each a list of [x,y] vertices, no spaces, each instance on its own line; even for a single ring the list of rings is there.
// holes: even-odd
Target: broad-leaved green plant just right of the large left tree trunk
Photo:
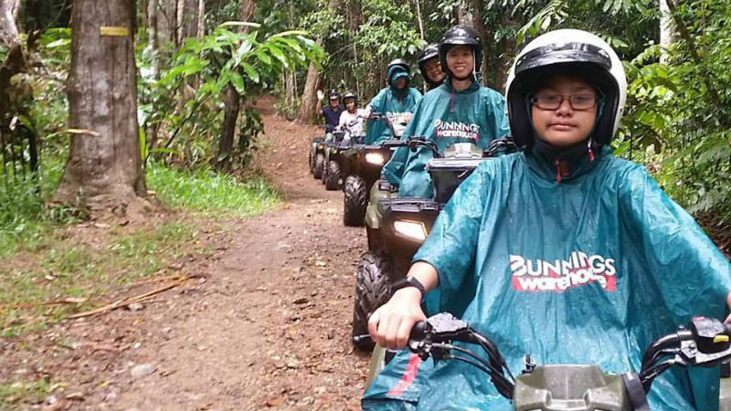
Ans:
[[[243,27],[249,32],[241,30]],[[142,66],[150,67],[151,61],[142,59]],[[302,30],[262,37],[260,25],[231,21],[206,37],[187,39],[159,79],[151,70],[141,69],[143,96],[139,109],[149,152],[162,153],[169,161],[211,163],[223,120],[223,94],[228,87],[237,91],[243,104],[252,89],[266,89],[279,81],[282,70],[305,68],[311,61],[319,64],[322,59],[323,50]],[[200,85],[193,90],[189,84],[196,79]],[[182,113],[176,110],[175,96],[180,94],[185,100]],[[249,148],[262,130],[253,111],[245,114],[238,123],[238,152],[232,153],[240,159],[239,164],[249,161]],[[173,132],[161,143],[154,137],[163,127]],[[182,128],[184,135],[173,144]]]

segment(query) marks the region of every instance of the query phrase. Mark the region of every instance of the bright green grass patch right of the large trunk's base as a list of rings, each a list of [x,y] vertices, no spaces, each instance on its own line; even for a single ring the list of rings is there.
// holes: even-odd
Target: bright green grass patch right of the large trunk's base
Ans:
[[[163,204],[211,217],[252,216],[281,201],[281,194],[262,178],[238,183],[211,170],[179,171],[157,163],[147,168],[147,185]]]

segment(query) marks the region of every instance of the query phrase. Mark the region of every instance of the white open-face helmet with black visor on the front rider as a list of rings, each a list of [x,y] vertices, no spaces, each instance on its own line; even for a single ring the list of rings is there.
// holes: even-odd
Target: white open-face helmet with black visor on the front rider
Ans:
[[[620,126],[627,99],[627,79],[617,53],[601,38],[583,30],[560,29],[536,37],[515,58],[508,76],[505,96],[515,143],[533,144],[528,95],[546,79],[556,75],[577,75],[604,94],[603,107],[591,138],[608,144]]]

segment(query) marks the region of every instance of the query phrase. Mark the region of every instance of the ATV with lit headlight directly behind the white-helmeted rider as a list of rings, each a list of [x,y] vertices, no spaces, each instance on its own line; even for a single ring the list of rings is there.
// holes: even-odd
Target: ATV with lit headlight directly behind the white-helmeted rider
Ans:
[[[405,142],[386,142],[389,148],[429,149],[427,163],[434,194],[431,198],[397,197],[397,187],[379,180],[371,189],[365,214],[368,251],[361,256],[355,279],[353,343],[369,350],[369,340],[355,338],[367,333],[367,318],[391,296],[391,284],[406,276],[411,258],[429,235],[434,221],[457,187],[483,161],[515,151],[511,139],[495,140],[484,152],[471,142],[451,145],[442,155],[435,142],[412,137]]]

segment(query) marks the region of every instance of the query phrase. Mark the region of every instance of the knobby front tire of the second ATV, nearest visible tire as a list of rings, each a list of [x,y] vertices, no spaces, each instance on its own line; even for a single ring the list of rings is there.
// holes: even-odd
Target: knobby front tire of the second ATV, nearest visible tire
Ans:
[[[391,297],[391,282],[387,275],[385,258],[370,251],[361,256],[355,278],[355,308],[353,310],[353,336],[368,333],[368,316]],[[371,340],[353,339],[360,350],[372,350]]]

